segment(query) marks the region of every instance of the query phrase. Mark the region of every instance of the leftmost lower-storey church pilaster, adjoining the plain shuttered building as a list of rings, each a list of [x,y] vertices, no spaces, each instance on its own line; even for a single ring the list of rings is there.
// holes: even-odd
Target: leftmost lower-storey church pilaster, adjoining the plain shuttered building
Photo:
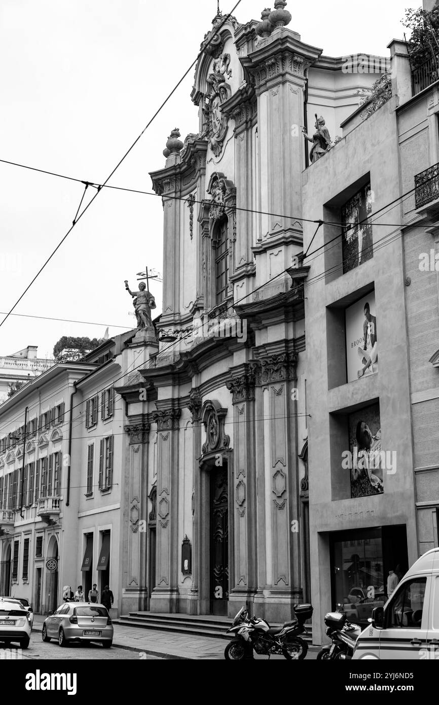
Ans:
[[[125,526],[123,611],[147,608],[147,509],[149,423],[133,422],[124,430],[130,436],[128,475],[125,474]]]

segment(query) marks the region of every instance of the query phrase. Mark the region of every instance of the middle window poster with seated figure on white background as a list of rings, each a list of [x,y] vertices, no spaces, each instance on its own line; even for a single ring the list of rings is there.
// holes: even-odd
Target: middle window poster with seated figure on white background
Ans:
[[[378,372],[375,292],[346,309],[347,381]]]

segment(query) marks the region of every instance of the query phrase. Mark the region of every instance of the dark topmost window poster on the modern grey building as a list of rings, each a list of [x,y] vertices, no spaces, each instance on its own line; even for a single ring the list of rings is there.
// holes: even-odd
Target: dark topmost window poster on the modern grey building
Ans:
[[[343,274],[373,257],[372,192],[368,183],[342,206]]]

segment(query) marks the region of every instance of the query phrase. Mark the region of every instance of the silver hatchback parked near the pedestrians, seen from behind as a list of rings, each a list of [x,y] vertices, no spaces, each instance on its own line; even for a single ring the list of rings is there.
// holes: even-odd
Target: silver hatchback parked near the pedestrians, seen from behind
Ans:
[[[67,602],[43,623],[42,640],[56,639],[60,646],[71,642],[101,642],[109,649],[113,644],[113,624],[109,611],[99,603]]]

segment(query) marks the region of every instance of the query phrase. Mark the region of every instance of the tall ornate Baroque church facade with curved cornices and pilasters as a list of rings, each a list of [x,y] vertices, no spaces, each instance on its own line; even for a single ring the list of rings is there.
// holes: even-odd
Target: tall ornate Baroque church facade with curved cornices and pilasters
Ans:
[[[129,439],[122,613],[230,616],[247,603],[280,622],[311,600],[302,128],[323,113],[333,135],[358,81],[302,42],[285,5],[247,24],[214,18],[191,94],[198,131],[172,130],[151,173],[163,313],[159,343],[128,346],[144,367],[116,386]]]

